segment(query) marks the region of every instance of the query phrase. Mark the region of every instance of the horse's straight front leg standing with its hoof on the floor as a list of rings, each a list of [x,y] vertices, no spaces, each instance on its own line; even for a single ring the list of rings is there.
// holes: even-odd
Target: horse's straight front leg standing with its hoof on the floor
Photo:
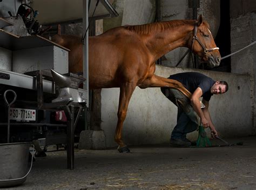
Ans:
[[[118,112],[117,112],[117,128],[116,133],[114,135],[114,140],[118,144],[117,150],[119,152],[130,152],[129,148],[124,144],[122,140],[122,129],[123,123],[126,117],[127,108],[132,96],[132,93],[136,87],[134,83],[125,83],[120,87],[120,95],[119,95],[119,105],[118,105]]]

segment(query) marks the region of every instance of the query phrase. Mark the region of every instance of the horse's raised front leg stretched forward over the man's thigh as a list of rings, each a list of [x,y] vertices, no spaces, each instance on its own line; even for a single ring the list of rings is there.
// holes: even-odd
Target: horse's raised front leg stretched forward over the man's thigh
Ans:
[[[140,85],[138,85],[140,88],[145,89],[147,87],[170,87],[172,89],[177,89],[187,98],[191,98],[191,93],[188,91],[180,82],[177,80],[159,77],[156,74],[154,74],[151,78],[148,78],[144,80]]]

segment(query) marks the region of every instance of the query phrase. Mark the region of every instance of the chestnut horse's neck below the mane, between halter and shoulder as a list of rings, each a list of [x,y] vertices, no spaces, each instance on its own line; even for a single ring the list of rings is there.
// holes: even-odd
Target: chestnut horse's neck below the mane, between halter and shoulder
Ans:
[[[178,47],[188,48],[192,40],[193,28],[193,24],[187,24],[154,31],[147,38],[147,47],[156,59]]]

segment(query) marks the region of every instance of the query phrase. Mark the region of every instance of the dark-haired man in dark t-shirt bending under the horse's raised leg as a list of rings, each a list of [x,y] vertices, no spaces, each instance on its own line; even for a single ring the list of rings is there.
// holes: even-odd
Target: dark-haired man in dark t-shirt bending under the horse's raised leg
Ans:
[[[178,107],[177,125],[174,127],[170,144],[173,146],[187,147],[191,142],[186,138],[186,134],[196,131],[200,123],[205,127],[210,127],[212,137],[216,137],[218,132],[212,123],[208,112],[209,100],[213,94],[227,92],[228,84],[225,81],[215,82],[210,77],[198,72],[184,72],[173,74],[170,79],[178,80],[184,87],[191,92],[191,99],[176,89],[161,88],[161,92]],[[203,105],[199,98],[203,97]],[[198,117],[200,121],[198,121]]]

